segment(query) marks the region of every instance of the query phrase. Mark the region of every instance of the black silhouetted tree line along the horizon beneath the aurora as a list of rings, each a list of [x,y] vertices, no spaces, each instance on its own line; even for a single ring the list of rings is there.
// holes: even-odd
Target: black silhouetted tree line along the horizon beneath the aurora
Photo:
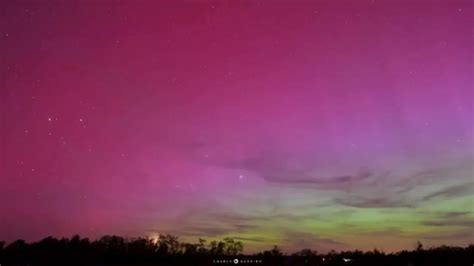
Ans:
[[[198,243],[180,242],[177,236],[160,235],[158,239],[103,236],[91,241],[76,235],[72,238],[47,237],[27,243],[16,240],[0,242],[0,265],[474,265],[474,245],[440,246],[424,249],[421,243],[411,251],[384,253],[373,251],[316,250],[284,254],[277,246],[253,255],[243,255],[243,244],[232,238]]]

